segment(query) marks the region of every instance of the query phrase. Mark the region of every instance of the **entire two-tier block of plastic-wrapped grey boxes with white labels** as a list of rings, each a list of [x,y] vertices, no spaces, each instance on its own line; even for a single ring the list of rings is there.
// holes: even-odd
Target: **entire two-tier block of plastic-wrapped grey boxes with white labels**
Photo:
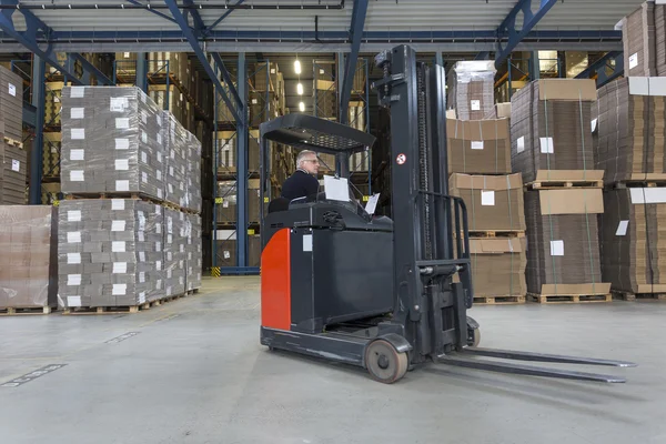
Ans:
[[[200,286],[191,134],[138,88],[67,87],[62,110],[59,305],[137,312]]]

